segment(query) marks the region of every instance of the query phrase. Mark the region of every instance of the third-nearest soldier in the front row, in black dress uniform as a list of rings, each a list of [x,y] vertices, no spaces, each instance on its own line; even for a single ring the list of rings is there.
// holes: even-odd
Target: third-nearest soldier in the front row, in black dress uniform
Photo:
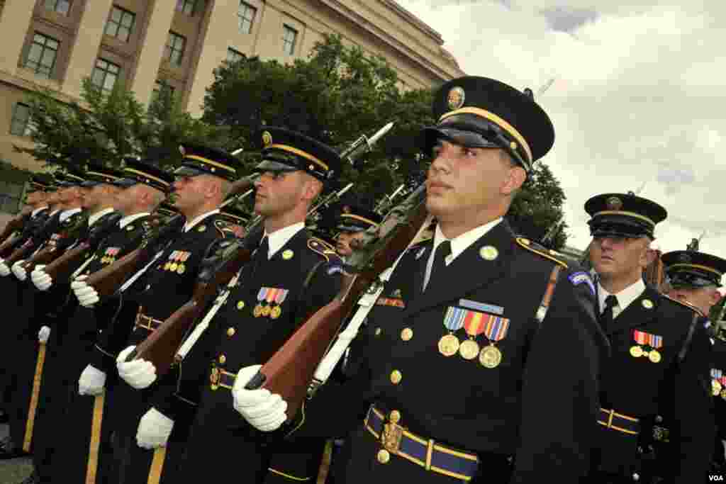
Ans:
[[[135,435],[139,417],[146,411],[147,399],[155,388],[139,391],[123,382],[117,384],[118,353],[127,345],[142,342],[192,298],[200,262],[208,247],[221,238],[231,237],[227,222],[219,215],[219,205],[237,179],[237,160],[211,147],[184,144],[180,149],[183,159],[174,172],[176,181],[172,189],[174,205],[186,223],[155,261],[142,269],[142,274],[133,276],[138,276],[135,282],[124,288],[123,304],[99,335],[89,365],[78,380],[81,394],[99,395],[104,389],[107,393],[103,425],[111,432],[113,463],[108,464],[107,456],[102,456],[105,463],[99,463],[107,469],[107,483],[146,482],[152,457],[152,453],[136,446]],[[88,298],[85,289],[77,294],[81,295],[79,299]],[[176,465],[173,447],[169,448],[168,467]]]

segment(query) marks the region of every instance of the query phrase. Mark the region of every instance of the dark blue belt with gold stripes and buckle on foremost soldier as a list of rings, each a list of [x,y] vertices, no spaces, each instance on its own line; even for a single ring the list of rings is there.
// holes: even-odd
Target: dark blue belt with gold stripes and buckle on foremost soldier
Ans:
[[[380,439],[383,448],[378,451],[378,462],[386,464],[394,456],[403,457],[437,474],[471,480],[479,467],[479,458],[470,452],[442,446],[433,439],[422,438],[401,427],[398,411],[391,411],[388,419],[375,406],[371,406],[364,420],[368,432]]]

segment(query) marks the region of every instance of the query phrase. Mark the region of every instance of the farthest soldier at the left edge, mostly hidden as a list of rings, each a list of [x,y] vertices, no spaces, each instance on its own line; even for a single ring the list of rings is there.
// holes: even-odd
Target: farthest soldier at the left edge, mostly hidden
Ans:
[[[3,295],[4,300],[8,303],[8,308],[12,315],[11,320],[15,320],[20,314],[20,282],[15,277],[7,277],[10,274],[10,269],[5,265],[2,257],[9,256],[28,241],[28,239],[38,233],[38,231],[41,231],[44,224],[48,221],[50,213],[49,200],[52,201],[54,199],[54,194],[52,195],[52,193],[56,188],[52,175],[33,175],[28,185],[26,200],[26,204],[30,208],[30,213],[23,225],[23,229],[17,234],[11,235],[7,241],[0,241],[3,242],[2,245],[4,246],[0,252],[0,270],[4,271],[6,275],[5,277],[0,277],[0,294]],[[13,330],[12,324],[0,325],[0,395],[3,398],[1,404],[3,410],[9,407],[15,388],[15,379],[10,374],[13,367],[12,358],[10,358],[10,354],[12,353],[11,347],[15,343],[15,333]],[[6,413],[3,413],[3,420],[3,423],[7,423],[9,420]],[[13,459],[22,454],[23,450],[20,443],[15,445],[9,435],[7,438],[0,440],[0,460]]]

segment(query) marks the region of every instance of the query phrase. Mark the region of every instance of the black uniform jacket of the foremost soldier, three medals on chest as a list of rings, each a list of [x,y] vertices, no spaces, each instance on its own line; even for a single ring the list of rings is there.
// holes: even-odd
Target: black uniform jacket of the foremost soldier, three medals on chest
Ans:
[[[424,442],[476,454],[471,482],[578,482],[589,464],[598,361],[608,345],[595,322],[590,279],[533,246],[501,222],[432,276],[423,293],[433,241],[409,248],[354,340],[356,376],[319,390],[292,437],[356,427],[346,483],[459,482],[396,455],[378,462],[383,446],[361,419],[372,403],[385,416],[398,412],[399,424]],[[555,266],[562,271],[540,322]],[[498,366],[439,352],[452,308],[508,319],[496,342]],[[467,338],[464,329],[456,335]],[[481,335],[476,340],[487,344]]]

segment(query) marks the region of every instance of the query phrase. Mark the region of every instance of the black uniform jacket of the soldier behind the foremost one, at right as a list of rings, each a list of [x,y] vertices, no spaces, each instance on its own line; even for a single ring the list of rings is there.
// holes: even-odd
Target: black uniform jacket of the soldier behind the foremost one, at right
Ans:
[[[605,422],[598,425],[596,465],[600,472],[625,477],[640,474],[638,446],[641,444],[643,450],[643,444],[649,443],[657,419],[665,421],[669,438],[676,443],[666,459],[672,469],[661,475],[677,483],[705,480],[714,420],[709,379],[711,343],[702,323],[693,308],[648,286],[608,327],[612,354],[603,363],[601,404],[603,409],[639,419],[640,435],[608,428],[607,419],[598,417]],[[645,338],[651,345],[643,339],[638,342],[643,334],[650,335]],[[632,350],[634,347],[640,350]],[[653,349],[660,358],[651,358]],[[640,353],[642,356],[634,356]]]

